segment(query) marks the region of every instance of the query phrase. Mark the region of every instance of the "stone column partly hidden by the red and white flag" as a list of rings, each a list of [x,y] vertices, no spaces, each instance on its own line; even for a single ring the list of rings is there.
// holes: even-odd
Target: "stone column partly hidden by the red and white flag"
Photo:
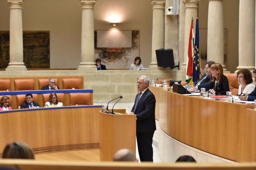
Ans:
[[[185,32],[184,32],[184,62],[181,69],[187,68],[187,55],[188,55],[188,39],[190,34],[191,19],[194,19],[194,29],[196,29],[196,17],[198,15],[198,3],[200,0],[183,0],[185,3]],[[195,34],[195,31],[194,31]]]

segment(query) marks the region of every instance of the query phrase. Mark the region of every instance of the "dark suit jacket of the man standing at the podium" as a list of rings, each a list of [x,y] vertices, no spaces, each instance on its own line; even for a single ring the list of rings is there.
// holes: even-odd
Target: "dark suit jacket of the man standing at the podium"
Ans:
[[[135,103],[137,100],[137,96],[140,93],[136,95]],[[154,132],[156,130],[155,126],[155,96],[154,94],[147,89],[141,96],[136,110],[134,110],[135,107],[132,107],[131,112],[134,112],[134,114],[137,115],[137,127],[136,132],[145,133],[145,132]]]

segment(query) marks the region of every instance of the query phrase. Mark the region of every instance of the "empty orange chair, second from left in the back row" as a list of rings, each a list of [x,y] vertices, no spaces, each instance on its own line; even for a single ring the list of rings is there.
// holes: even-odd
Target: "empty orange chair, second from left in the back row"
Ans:
[[[14,80],[15,91],[34,90],[34,79],[16,79]]]

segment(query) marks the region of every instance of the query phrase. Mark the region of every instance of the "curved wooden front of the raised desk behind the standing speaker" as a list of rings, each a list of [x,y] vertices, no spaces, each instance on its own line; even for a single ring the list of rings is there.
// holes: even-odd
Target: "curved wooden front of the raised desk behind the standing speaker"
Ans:
[[[237,162],[256,161],[253,105],[186,96],[150,86],[160,128],[196,149]],[[165,147],[165,146],[161,146]]]

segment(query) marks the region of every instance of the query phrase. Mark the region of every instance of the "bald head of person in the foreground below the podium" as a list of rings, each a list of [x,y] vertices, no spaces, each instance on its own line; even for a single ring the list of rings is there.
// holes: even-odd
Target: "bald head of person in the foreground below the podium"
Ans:
[[[135,154],[129,149],[120,149],[114,154],[114,161],[138,162]]]

